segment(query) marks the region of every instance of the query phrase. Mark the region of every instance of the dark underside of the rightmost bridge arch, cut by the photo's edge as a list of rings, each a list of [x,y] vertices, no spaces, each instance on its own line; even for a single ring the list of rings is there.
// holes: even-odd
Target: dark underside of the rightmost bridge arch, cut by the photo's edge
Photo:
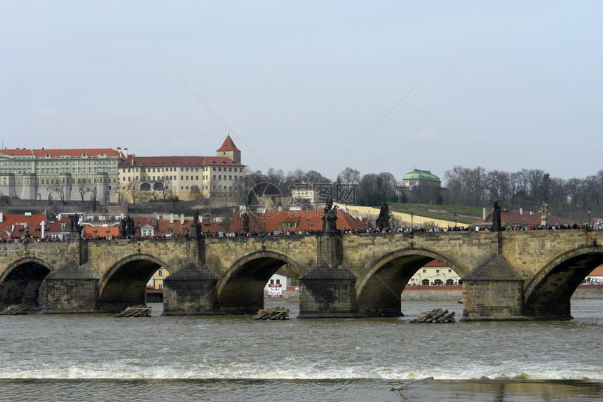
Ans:
[[[551,259],[524,287],[524,315],[571,319],[571,295],[600,264],[600,246],[574,248]]]

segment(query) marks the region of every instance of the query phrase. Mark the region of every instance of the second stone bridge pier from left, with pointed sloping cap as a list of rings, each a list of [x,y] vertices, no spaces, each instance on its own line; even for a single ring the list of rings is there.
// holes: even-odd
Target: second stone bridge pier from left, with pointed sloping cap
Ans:
[[[219,314],[216,311],[217,276],[207,265],[189,262],[163,279],[164,316]]]

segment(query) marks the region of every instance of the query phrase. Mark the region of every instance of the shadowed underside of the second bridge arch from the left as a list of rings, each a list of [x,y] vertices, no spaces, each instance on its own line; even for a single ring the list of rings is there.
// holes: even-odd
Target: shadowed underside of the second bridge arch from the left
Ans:
[[[100,279],[98,309],[114,312],[146,304],[147,282],[160,267],[172,272],[163,260],[149,254],[130,255],[115,262]]]

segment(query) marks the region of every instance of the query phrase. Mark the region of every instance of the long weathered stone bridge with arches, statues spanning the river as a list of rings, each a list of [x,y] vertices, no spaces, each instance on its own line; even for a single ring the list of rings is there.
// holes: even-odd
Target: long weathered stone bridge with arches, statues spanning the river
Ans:
[[[302,274],[301,318],[400,316],[427,262],[463,279],[463,320],[570,319],[570,297],[603,263],[603,232],[414,232],[0,244],[0,308],[120,311],[144,304],[164,267],[165,315],[253,314],[285,264]]]

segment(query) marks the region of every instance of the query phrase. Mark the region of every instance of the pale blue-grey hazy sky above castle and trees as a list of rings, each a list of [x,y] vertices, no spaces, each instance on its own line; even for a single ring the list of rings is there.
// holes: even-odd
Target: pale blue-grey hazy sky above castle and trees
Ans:
[[[603,169],[603,1],[0,0],[5,148]]]

